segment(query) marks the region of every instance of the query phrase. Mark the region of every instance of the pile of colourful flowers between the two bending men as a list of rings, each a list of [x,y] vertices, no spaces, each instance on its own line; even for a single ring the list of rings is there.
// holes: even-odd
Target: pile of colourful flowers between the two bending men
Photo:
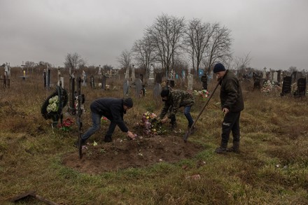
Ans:
[[[142,115],[141,122],[137,123],[137,127],[142,129],[142,132],[146,136],[151,137],[155,135],[164,134],[167,132],[163,129],[162,123],[156,119],[157,115],[155,113],[146,112]]]

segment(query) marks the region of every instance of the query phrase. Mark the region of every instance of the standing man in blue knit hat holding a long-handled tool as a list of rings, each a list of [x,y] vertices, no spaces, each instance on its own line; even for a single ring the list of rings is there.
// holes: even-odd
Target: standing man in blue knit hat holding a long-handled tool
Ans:
[[[221,146],[216,148],[218,154],[239,152],[239,116],[244,109],[244,100],[241,93],[239,80],[229,70],[225,70],[223,64],[218,63],[214,66],[214,73],[218,80],[221,80],[221,108],[225,117],[223,119],[223,133],[221,134]],[[230,132],[232,131],[233,146],[227,149]]]

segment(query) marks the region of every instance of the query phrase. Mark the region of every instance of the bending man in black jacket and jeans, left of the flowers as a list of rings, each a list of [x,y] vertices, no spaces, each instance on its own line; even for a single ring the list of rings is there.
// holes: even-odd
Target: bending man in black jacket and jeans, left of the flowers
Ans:
[[[109,129],[104,139],[105,142],[112,141],[111,136],[114,132],[114,129],[116,129],[116,125],[120,127],[122,132],[126,132],[130,139],[134,139],[134,134],[129,131],[123,120],[123,114],[132,108],[132,106],[133,101],[130,97],[125,99],[99,98],[92,101],[90,110],[92,114],[93,125],[87,130],[87,132],[85,132],[85,134],[83,134],[83,136],[81,136],[82,143],[84,144],[85,141],[90,136],[92,136],[92,134],[99,130],[102,116],[105,116],[108,120],[110,120]]]

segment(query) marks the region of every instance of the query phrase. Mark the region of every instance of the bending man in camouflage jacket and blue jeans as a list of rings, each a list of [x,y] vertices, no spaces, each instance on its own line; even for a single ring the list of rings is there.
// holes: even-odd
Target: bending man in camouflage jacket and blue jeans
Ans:
[[[172,125],[172,130],[176,127],[176,113],[180,107],[184,107],[184,115],[188,120],[188,129],[193,125],[194,120],[190,115],[190,108],[195,104],[195,99],[193,94],[183,90],[169,90],[167,87],[162,89],[160,93],[162,101],[165,101],[165,106],[162,108],[162,112],[159,115],[159,120],[162,123],[167,122],[170,119],[170,124]],[[168,113],[169,115],[165,117]],[[164,118],[165,117],[165,118]],[[190,134],[195,132],[195,127],[191,130]]]

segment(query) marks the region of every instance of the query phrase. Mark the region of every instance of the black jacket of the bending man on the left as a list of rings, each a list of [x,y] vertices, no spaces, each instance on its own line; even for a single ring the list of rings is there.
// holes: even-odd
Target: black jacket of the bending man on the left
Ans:
[[[90,109],[92,113],[104,115],[111,122],[115,122],[122,132],[128,132],[123,120],[123,115],[126,113],[123,108],[123,99],[99,98],[92,101]]]

